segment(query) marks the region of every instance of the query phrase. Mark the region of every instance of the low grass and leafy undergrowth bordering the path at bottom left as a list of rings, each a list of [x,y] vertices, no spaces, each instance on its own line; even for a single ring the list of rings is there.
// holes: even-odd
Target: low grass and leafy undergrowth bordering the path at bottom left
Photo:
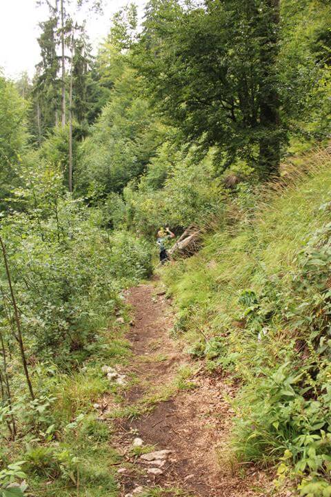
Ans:
[[[8,497],[23,496],[19,491],[24,489],[36,497],[118,496],[117,463],[121,458],[112,448],[112,424],[99,419],[94,403],[110,391],[116,402],[119,387],[110,384],[101,368],[128,362],[131,353],[123,338],[125,330],[125,325],[110,319],[108,328],[99,331],[103,347],[72,374],[54,364],[37,368],[34,374],[39,374],[42,395],[30,402],[30,407],[22,402],[26,412],[19,417],[20,437],[14,442],[6,440],[0,451],[7,475],[4,481],[23,480],[20,489],[6,490]],[[37,378],[34,382],[37,384]]]

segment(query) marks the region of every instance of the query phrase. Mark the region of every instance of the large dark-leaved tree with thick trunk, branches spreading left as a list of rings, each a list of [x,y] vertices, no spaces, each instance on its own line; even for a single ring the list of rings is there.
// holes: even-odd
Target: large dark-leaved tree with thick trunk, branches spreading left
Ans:
[[[277,2],[216,1],[190,9],[155,2],[136,64],[153,101],[187,139],[219,146],[219,167],[240,157],[257,164],[263,177],[272,162],[277,169],[283,139],[278,41]]]

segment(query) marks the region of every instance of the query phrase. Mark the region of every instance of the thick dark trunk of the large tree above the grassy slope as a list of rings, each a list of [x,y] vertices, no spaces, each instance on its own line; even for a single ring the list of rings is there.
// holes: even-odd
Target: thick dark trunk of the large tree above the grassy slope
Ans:
[[[279,42],[279,0],[265,0],[270,16],[262,29],[260,88],[260,125],[258,172],[261,180],[279,174],[281,160],[281,133],[279,94],[276,85],[275,65]],[[263,21],[262,21],[263,22]]]

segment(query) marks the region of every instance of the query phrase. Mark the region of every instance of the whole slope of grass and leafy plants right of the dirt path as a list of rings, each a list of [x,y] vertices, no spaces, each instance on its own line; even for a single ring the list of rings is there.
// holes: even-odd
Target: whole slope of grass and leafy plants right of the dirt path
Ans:
[[[163,271],[175,333],[241,384],[235,456],[277,465],[276,485],[310,497],[331,495],[330,166],[320,152],[288,186],[241,186],[237,222],[222,217],[197,255]]]

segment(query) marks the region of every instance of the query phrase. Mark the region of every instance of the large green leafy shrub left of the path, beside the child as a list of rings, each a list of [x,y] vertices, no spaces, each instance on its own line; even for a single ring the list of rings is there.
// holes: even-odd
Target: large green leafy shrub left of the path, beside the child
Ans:
[[[152,251],[130,233],[109,236],[101,213],[80,201],[58,202],[45,220],[6,220],[3,238],[32,353],[69,368],[88,358],[96,331],[123,305],[119,291],[152,273]],[[2,318],[9,331],[5,309]]]

